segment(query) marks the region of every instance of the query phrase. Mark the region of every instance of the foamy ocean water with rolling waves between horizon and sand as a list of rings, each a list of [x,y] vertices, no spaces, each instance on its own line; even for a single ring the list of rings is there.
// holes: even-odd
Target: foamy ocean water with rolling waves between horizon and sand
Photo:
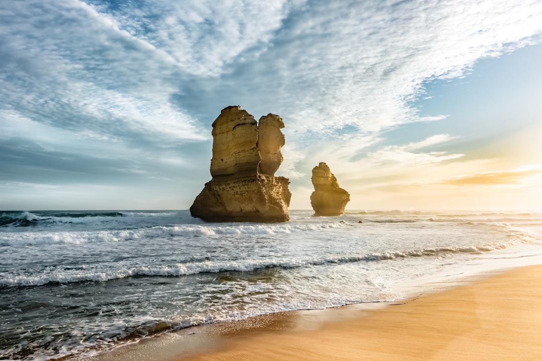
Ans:
[[[540,211],[312,214],[0,212],[0,359],[82,359],[193,325],[392,301],[413,281],[542,254]]]

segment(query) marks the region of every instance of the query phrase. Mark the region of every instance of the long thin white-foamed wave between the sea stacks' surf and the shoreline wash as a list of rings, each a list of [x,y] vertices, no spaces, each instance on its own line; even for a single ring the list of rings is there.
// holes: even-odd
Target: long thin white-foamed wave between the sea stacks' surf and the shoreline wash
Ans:
[[[457,253],[474,253],[481,254],[483,252],[491,252],[500,250],[510,246],[524,244],[530,242],[528,237],[521,237],[518,233],[517,237],[511,237],[506,241],[499,242],[493,245],[481,246],[465,246],[465,247],[442,247],[442,248],[420,248],[417,250],[407,251],[389,251],[380,253],[369,253],[363,255],[337,256],[314,259],[299,259],[299,258],[269,258],[269,259],[248,259],[248,260],[230,260],[230,261],[200,261],[176,263],[170,265],[141,265],[135,267],[118,268],[111,271],[96,270],[95,268],[87,268],[85,265],[79,267],[62,268],[63,273],[43,274],[35,276],[15,275],[8,278],[0,279],[0,288],[19,287],[19,286],[42,286],[46,284],[68,284],[78,282],[105,282],[126,277],[179,277],[198,273],[219,273],[228,271],[247,272],[262,268],[296,268],[306,266],[318,266],[325,264],[345,264],[351,262],[372,262],[386,261],[405,258],[417,257],[435,257],[447,258]],[[68,272],[66,272],[68,271]]]

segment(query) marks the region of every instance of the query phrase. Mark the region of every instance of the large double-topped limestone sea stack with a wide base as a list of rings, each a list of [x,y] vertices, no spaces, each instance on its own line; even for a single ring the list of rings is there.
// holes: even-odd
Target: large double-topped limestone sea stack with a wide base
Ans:
[[[278,115],[254,117],[239,106],[222,109],[212,123],[212,179],[190,207],[207,222],[285,222],[289,180],[275,177],[285,143]]]

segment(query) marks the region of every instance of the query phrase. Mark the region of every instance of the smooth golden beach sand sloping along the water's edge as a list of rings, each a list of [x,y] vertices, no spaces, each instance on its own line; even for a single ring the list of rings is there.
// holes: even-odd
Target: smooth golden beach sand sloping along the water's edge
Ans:
[[[192,327],[165,348],[150,342],[147,352],[176,361],[542,360],[541,278],[542,265],[526,266],[373,310],[351,305]],[[132,351],[104,359],[133,360]]]

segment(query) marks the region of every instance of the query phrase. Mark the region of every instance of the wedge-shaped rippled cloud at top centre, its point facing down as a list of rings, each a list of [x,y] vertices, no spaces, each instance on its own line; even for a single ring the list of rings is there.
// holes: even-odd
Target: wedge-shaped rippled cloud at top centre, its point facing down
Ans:
[[[119,29],[170,55],[186,73],[217,76],[247,48],[263,51],[294,3],[266,2],[89,1],[111,16]],[[299,6],[299,4],[297,6]],[[241,56],[241,60],[243,59]]]

